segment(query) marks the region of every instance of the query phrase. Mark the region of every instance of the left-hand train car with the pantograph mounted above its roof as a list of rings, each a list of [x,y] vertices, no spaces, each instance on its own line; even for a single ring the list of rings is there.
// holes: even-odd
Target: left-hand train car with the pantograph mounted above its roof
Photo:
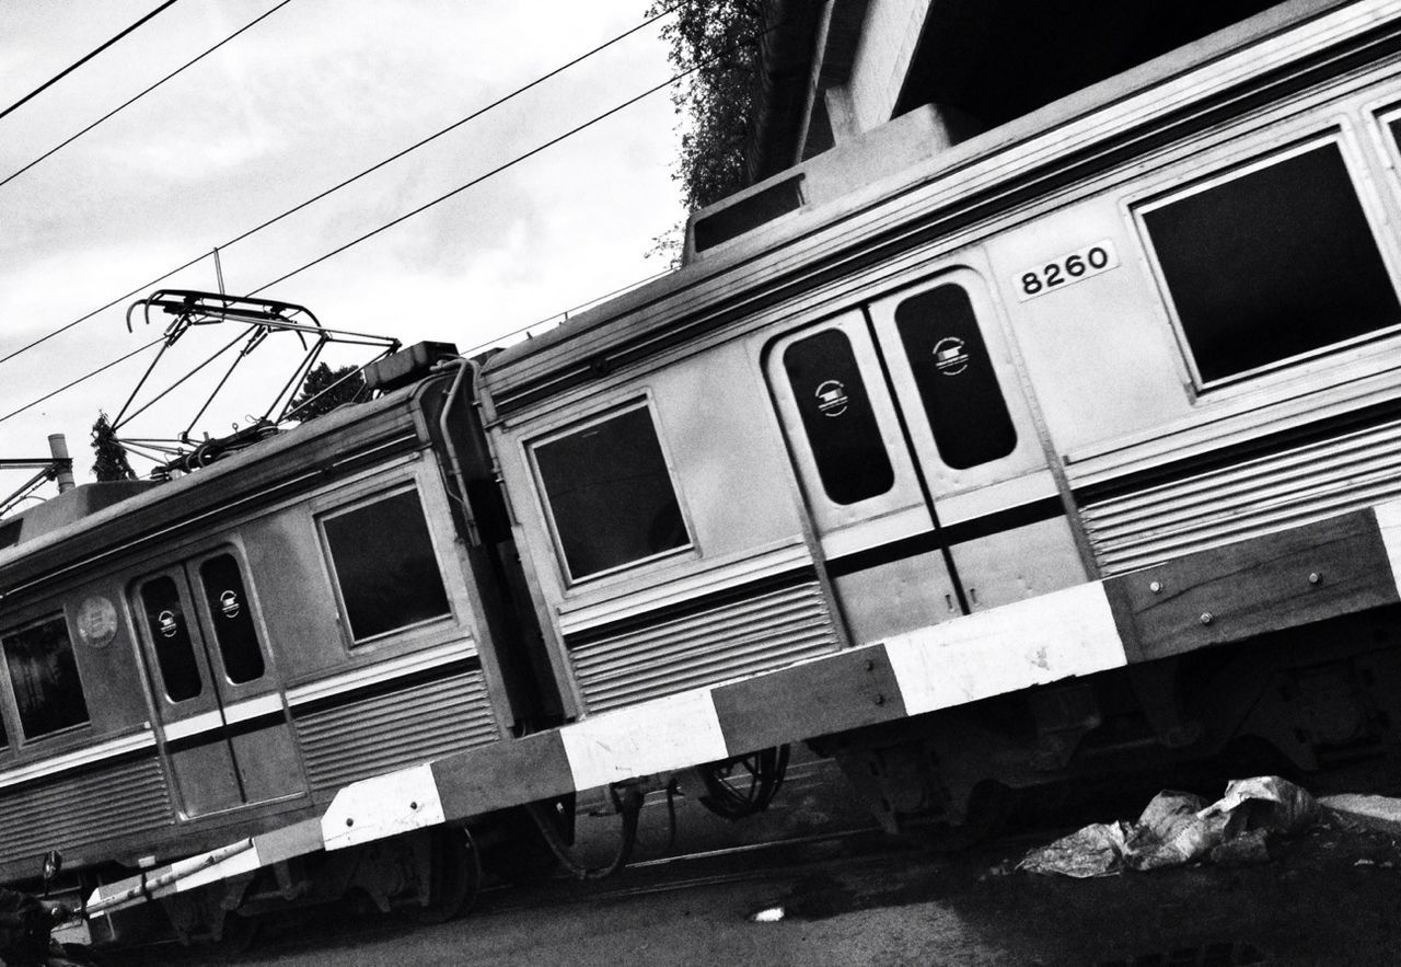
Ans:
[[[558,722],[518,684],[534,646],[471,363],[420,345],[377,377],[380,399],[179,479],[91,484],[3,523],[0,877],[57,848],[91,887]],[[342,879],[439,900],[427,851],[378,866]]]

